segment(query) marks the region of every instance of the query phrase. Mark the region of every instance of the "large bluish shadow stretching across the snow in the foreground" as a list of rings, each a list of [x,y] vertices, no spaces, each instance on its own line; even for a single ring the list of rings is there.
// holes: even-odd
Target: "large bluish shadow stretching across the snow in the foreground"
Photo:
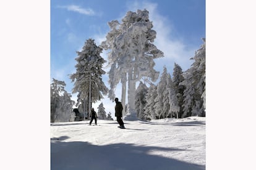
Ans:
[[[51,170],[205,169],[174,158],[150,155],[150,151],[182,152],[177,148],[133,144],[92,145],[88,142],[51,141]]]

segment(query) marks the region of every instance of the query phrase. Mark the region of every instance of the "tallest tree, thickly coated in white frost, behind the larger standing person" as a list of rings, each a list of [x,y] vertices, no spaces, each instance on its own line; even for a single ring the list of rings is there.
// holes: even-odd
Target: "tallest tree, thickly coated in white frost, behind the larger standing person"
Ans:
[[[163,57],[163,52],[156,48],[152,42],[156,38],[156,31],[148,18],[147,10],[127,12],[122,18],[122,23],[117,20],[109,22],[111,31],[106,36],[106,41],[101,43],[108,53],[109,65],[109,99],[115,97],[114,89],[119,81],[122,83],[122,99],[126,100],[126,82],[128,81],[128,113],[124,119],[137,119],[135,111],[135,85],[142,77],[156,81],[159,72],[154,70],[153,59]]]

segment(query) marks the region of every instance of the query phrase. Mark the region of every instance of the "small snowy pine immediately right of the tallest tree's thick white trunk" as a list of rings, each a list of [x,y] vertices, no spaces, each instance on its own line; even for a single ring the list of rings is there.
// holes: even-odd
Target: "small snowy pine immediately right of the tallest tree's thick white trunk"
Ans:
[[[140,119],[144,119],[147,90],[148,87],[140,81],[140,84],[135,91],[135,110],[137,111],[137,116]]]

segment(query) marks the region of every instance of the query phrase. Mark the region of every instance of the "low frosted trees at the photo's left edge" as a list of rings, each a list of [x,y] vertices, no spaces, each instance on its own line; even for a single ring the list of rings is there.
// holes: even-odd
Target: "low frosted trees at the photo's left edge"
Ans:
[[[65,90],[66,83],[53,78],[51,83],[51,122],[70,121],[72,107],[75,101],[72,95]]]

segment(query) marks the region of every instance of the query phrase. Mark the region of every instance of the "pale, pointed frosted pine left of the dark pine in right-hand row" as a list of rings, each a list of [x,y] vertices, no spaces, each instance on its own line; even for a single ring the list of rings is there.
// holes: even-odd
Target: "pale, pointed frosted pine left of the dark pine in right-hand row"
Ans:
[[[169,102],[169,101],[164,101],[164,94],[166,94],[168,89],[166,89],[167,85],[167,78],[168,78],[168,73],[167,69],[164,66],[163,73],[161,74],[160,77],[160,82],[158,83],[157,89],[156,89],[156,99],[155,99],[155,109],[156,109],[156,118],[157,119],[163,119],[166,118],[166,110],[163,110],[164,108],[164,102]],[[167,105],[167,104],[166,104]]]

